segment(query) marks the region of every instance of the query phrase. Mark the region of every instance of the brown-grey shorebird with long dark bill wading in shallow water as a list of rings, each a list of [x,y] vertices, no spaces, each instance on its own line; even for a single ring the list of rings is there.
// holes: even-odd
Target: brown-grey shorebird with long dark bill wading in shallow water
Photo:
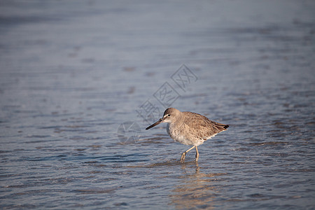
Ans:
[[[200,146],[216,136],[216,134],[225,131],[229,125],[216,123],[207,117],[190,111],[179,111],[175,108],[165,110],[163,117],[156,123],[153,123],[146,130],[149,130],[160,123],[167,123],[167,134],[169,137],[181,144],[193,145],[192,148],[181,154],[181,163],[185,161],[186,154],[193,148],[196,148],[196,162],[199,159],[197,146]]]

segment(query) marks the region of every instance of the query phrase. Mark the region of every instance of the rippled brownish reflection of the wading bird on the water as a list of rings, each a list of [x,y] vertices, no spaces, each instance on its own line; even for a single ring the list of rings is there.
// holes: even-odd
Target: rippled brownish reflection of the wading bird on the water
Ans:
[[[172,190],[171,205],[176,209],[213,209],[214,199],[219,193],[217,176],[225,174],[202,173],[197,162],[195,165],[184,164],[182,169],[181,184]]]

